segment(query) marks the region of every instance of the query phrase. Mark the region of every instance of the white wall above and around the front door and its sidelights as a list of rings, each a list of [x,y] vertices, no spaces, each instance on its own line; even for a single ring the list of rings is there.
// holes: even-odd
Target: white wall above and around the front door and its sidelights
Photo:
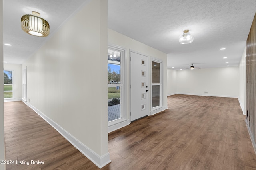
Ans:
[[[138,53],[148,55],[148,60],[151,61],[152,58],[159,59],[163,62],[163,108],[167,109],[167,54],[163,53],[162,51],[159,51],[157,49],[154,49],[148,45],[145,45],[139,41],[136,41],[130,37],[127,37],[125,35],[122,35],[121,33],[118,33],[112,29],[108,29],[108,43],[112,45],[118,45],[126,49],[126,61],[125,61],[125,68],[127,72],[126,76],[126,87],[129,86],[129,49],[132,51],[137,51]],[[150,71],[150,70],[149,70]],[[149,82],[151,80],[151,77],[149,77]],[[129,94],[130,94],[130,88],[126,88],[128,94],[126,96],[127,105],[126,108],[129,108]],[[130,117],[129,111],[127,111],[127,117]]]

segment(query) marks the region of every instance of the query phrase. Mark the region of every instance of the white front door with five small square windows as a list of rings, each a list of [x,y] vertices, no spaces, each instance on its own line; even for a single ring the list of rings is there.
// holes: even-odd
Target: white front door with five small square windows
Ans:
[[[148,115],[148,57],[130,53],[131,121]]]

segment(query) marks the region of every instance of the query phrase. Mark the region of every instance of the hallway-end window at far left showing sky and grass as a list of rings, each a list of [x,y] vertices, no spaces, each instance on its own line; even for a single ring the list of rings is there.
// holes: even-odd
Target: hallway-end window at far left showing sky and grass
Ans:
[[[13,97],[12,71],[4,70],[4,98]]]

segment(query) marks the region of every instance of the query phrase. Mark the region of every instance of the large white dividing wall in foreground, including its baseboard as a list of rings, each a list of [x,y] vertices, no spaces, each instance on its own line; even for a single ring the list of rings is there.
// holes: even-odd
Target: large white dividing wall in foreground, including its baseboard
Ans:
[[[110,162],[107,36],[107,1],[89,0],[22,64],[28,105],[99,167]]]

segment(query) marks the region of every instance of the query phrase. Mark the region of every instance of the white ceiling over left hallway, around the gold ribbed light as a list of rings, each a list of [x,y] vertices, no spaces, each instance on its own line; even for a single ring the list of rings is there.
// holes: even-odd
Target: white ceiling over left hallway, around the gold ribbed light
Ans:
[[[4,61],[22,64],[54,34],[54,31],[86,0],[3,0]],[[48,37],[36,37],[21,29],[24,14],[37,11],[50,24]]]

